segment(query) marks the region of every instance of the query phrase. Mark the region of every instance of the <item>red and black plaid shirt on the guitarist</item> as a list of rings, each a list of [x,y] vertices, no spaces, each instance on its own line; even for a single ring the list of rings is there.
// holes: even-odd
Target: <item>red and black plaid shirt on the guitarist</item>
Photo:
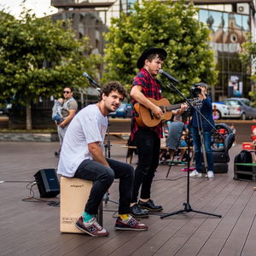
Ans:
[[[137,76],[133,79],[133,83],[131,85],[140,85],[142,86],[143,90],[142,93],[146,97],[153,98],[155,100],[160,100],[162,98],[161,96],[161,87],[160,87],[160,81],[157,79],[154,79],[149,73],[148,70],[145,68],[142,68],[139,73],[137,73]],[[134,99],[131,100],[132,105],[136,103]],[[133,140],[135,133],[138,131],[139,125],[137,125],[137,122],[134,117],[134,112],[132,112],[131,115],[131,140]],[[158,137],[163,137],[162,132],[162,123],[160,122],[159,125],[156,125],[154,127],[148,128],[151,131],[155,131],[158,135]]]

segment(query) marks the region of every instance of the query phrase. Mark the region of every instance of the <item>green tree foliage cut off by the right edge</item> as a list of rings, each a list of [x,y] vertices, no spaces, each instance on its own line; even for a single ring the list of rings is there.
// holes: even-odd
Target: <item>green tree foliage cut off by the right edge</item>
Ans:
[[[247,72],[251,72],[251,67],[255,67],[256,65],[256,43],[252,42],[252,37],[248,35],[248,41],[246,43],[243,43],[242,45],[242,51],[240,54],[241,61],[247,66]],[[251,79],[256,81],[256,72],[255,68],[252,68],[253,73],[251,76]],[[256,91],[251,90],[249,91],[249,96],[251,97],[253,101],[253,106],[256,106]]]

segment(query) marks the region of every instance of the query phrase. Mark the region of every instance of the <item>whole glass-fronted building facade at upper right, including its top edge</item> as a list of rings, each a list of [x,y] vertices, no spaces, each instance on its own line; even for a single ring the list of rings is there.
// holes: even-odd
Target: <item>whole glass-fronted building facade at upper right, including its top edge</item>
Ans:
[[[251,70],[241,63],[241,44],[250,35],[255,38],[255,5],[253,1],[195,1],[200,8],[198,20],[211,31],[210,45],[214,50],[218,69],[218,84],[212,96],[223,101],[230,96],[247,96],[253,90]],[[200,3],[199,3],[200,2]],[[221,3],[221,4],[220,4]]]

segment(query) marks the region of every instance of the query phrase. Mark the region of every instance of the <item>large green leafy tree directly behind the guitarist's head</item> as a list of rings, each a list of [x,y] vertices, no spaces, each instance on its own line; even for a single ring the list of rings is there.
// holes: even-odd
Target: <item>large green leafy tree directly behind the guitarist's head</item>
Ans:
[[[161,47],[168,53],[163,69],[179,80],[177,87],[183,94],[189,95],[193,83],[215,84],[218,73],[208,45],[209,30],[195,20],[196,13],[193,4],[184,5],[184,1],[135,3],[130,15],[112,20],[105,35],[108,43],[104,79],[131,85],[143,50]],[[166,96],[172,101],[177,99],[170,94]]]

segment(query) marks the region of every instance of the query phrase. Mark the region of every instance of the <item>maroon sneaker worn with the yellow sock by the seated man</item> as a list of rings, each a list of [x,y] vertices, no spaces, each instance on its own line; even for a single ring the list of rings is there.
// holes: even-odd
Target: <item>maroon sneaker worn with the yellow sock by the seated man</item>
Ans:
[[[143,231],[148,230],[148,226],[140,223],[135,218],[130,218],[122,220],[121,218],[117,218],[115,222],[115,228],[117,230],[135,230],[135,231]]]

